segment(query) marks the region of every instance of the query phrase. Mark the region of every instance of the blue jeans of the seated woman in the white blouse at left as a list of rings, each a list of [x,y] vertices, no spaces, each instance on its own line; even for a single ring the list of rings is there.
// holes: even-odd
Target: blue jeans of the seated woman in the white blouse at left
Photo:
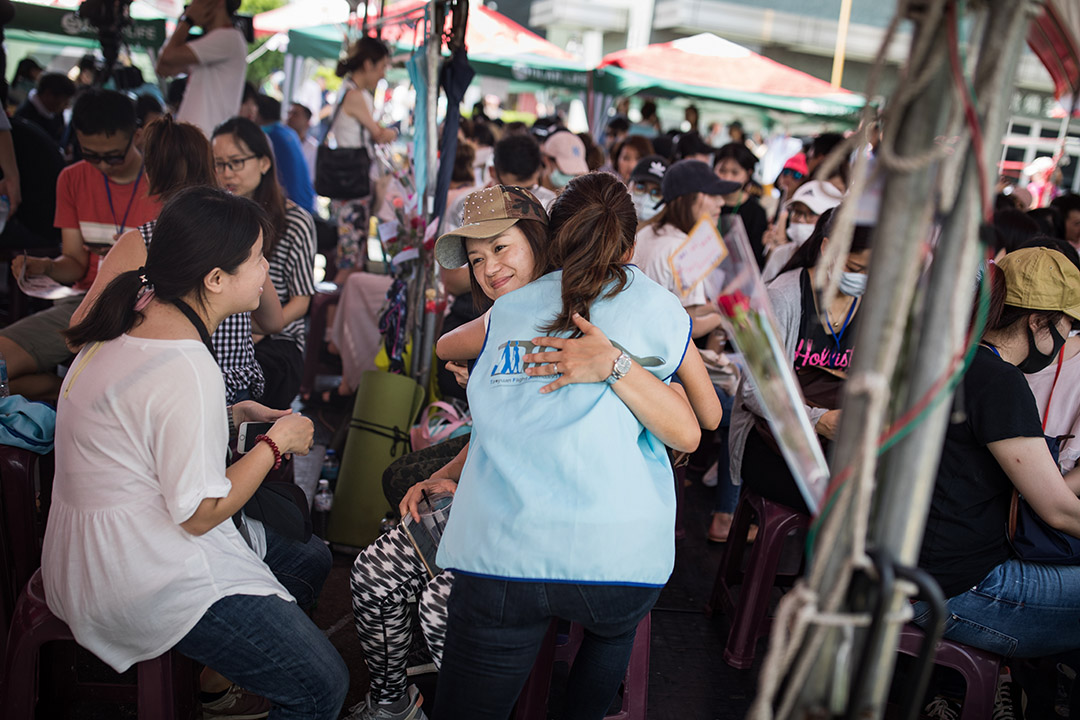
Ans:
[[[176,650],[273,704],[271,720],[336,720],[349,670],[295,602],[230,595],[184,636]]]

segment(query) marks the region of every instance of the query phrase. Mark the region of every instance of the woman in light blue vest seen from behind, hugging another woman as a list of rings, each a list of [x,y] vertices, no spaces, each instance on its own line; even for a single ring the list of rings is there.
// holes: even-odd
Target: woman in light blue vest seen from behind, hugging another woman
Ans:
[[[573,179],[549,226],[563,270],[490,311],[469,379],[469,457],[437,556],[456,581],[436,717],[507,718],[553,617],[585,629],[565,717],[603,717],[671,574],[664,446],[691,451],[701,433],[685,396],[660,381],[683,364],[690,322],[624,264],[636,225],[617,178]],[[474,268],[484,261],[481,244],[467,248]]]

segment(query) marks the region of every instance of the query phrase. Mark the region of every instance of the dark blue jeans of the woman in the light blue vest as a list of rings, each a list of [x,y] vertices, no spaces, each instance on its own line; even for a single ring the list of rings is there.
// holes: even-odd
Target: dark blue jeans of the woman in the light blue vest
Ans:
[[[553,617],[584,626],[566,720],[599,720],[619,692],[659,587],[511,582],[455,574],[435,719],[505,720]]]

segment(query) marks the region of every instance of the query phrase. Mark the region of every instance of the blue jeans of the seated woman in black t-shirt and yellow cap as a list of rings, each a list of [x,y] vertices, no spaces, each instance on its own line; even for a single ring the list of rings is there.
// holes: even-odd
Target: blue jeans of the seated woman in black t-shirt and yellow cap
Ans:
[[[1080,567],[1007,560],[946,603],[945,638],[1004,657],[1080,649]],[[916,602],[915,622],[929,619]]]

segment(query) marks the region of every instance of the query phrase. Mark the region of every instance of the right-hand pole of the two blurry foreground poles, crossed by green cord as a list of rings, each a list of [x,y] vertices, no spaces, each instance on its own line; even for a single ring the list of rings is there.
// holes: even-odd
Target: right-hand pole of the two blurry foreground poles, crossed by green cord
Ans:
[[[935,250],[905,407],[910,407],[929,392],[939,378],[949,370],[953,356],[962,352],[971,317],[975,268],[980,260],[981,200],[993,190],[996,179],[996,174],[989,171],[994,167],[994,157],[1004,131],[1008,93],[1012,87],[1012,78],[1028,24],[1026,2],[999,0],[990,4],[987,12],[990,14],[984,35],[984,47],[975,71],[975,84],[978,89],[976,94],[983,106],[978,113],[984,141],[981,160],[987,174],[983,179],[978,177],[974,148],[970,151],[966,151],[962,146],[957,148],[956,157],[966,159],[962,182],[959,186],[959,198],[947,216]],[[982,186],[984,180],[989,187]],[[878,512],[870,528],[870,536],[875,545],[889,548],[902,565],[918,563],[942,441],[951,408],[949,393],[922,424],[901,440],[882,462]],[[899,611],[906,601],[907,597],[900,590],[888,598],[893,611]],[[883,711],[899,630],[900,624],[893,623],[888,631],[879,636],[880,642],[868,648],[866,656],[869,663],[864,671],[870,683],[853,698],[854,711],[874,712],[877,717]]]

